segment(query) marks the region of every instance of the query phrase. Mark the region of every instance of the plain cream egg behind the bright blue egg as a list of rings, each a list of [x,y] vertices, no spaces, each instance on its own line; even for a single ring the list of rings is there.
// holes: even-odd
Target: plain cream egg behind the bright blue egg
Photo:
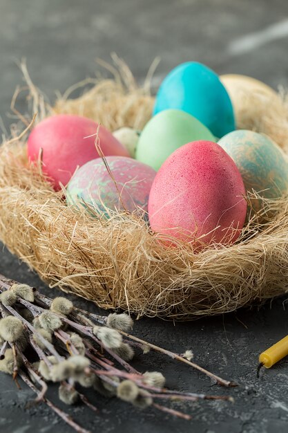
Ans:
[[[280,147],[288,147],[288,110],[276,91],[246,75],[221,75],[232,100],[238,129],[265,133]]]

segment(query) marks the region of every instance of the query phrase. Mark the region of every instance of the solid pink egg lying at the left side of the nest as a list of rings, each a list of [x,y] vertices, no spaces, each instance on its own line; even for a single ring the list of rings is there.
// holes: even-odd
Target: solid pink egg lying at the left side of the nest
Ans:
[[[43,171],[55,190],[60,190],[59,182],[66,185],[77,166],[99,157],[93,136],[97,128],[96,122],[81,116],[61,114],[46,118],[30,133],[28,158],[38,160],[42,149]],[[98,134],[105,156],[129,156],[124,146],[104,127],[99,127]]]

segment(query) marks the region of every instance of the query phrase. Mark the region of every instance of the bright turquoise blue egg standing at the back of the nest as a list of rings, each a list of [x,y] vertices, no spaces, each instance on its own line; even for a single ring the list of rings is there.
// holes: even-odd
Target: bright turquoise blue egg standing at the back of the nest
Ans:
[[[180,64],[164,78],[156,95],[154,114],[166,109],[190,113],[216,137],[235,129],[227,90],[215,72],[198,62]]]

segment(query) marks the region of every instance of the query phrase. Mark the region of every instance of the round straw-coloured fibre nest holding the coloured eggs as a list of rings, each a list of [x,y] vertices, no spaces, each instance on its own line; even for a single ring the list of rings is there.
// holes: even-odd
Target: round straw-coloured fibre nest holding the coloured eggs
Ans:
[[[47,106],[24,72],[38,120],[79,113],[113,130],[140,129],[151,116],[153,98],[133,84],[124,65],[121,79],[97,82],[75,100],[64,95],[55,107]],[[16,111],[15,104],[12,108]],[[261,216],[254,216],[229,248],[199,253],[188,244],[168,248],[136,215],[114,213],[107,221],[73,212],[41,167],[29,167],[25,138],[24,131],[0,150],[0,238],[50,287],[103,308],[175,320],[233,311],[287,291],[287,198],[263,203]]]

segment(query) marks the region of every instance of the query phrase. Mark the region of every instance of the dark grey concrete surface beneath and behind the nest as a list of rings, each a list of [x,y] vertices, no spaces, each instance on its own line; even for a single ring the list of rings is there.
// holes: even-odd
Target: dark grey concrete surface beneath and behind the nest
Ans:
[[[124,57],[142,80],[160,55],[153,84],[173,66],[195,59],[218,73],[244,73],[273,87],[288,84],[288,4],[285,0],[0,0],[0,115],[6,116],[15,86],[21,84],[16,62],[26,57],[32,80],[53,100],[95,73],[95,59],[110,53]],[[280,24],[279,24],[280,23]],[[247,35],[249,36],[247,38]],[[23,111],[26,100],[19,100]],[[50,291],[16,257],[3,249],[0,272]],[[186,324],[143,319],[135,335],[181,352],[191,348],[203,367],[240,386],[222,389],[198,372],[155,353],[137,356],[144,371],[157,369],[171,388],[211,394],[230,394],[231,403],[175,405],[193,416],[180,421],[161,412],[137,412],[117,400],[94,398],[99,416],[84,407],[69,409],[92,432],[276,433],[288,428],[288,360],[263,371],[256,380],[258,354],[288,333],[285,299],[262,308],[242,309],[221,317]],[[97,311],[92,303],[79,306]],[[49,396],[57,400],[56,389]],[[0,375],[0,432],[68,433],[72,430],[44,405],[26,408],[33,395],[23,385],[17,391],[10,377]]]

